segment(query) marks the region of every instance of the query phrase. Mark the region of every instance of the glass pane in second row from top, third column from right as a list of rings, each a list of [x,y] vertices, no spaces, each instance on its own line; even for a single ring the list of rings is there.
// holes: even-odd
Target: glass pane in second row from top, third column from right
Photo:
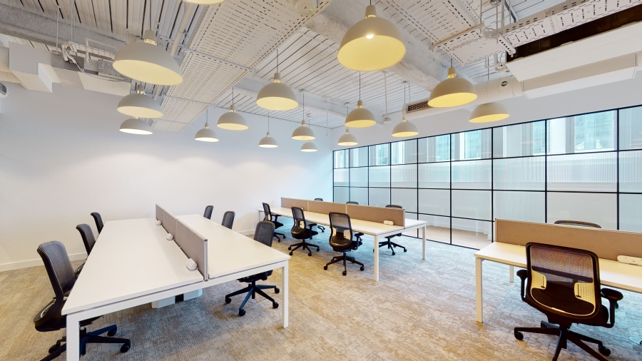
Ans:
[[[544,190],[544,157],[493,161],[494,189]]]

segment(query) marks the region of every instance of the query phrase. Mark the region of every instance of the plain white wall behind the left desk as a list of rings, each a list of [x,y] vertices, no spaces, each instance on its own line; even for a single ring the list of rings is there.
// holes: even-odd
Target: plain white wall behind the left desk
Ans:
[[[201,116],[183,133],[135,136],[118,131],[127,118],[117,96],[55,86],[54,93],[9,84],[0,113],[0,270],[40,264],[36,248],[59,240],[84,255],[75,229],[103,220],[152,217],[159,203],[175,215],[213,220],[234,210],[234,229],[253,230],[261,202],[281,196],[332,199],[332,152],[325,129],[314,128],[319,151],[303,153],[290,138],[297,123],[270,121],[278,148],[259,148],[267,118],[243,113],[248,131],[215,127],[225,110],[210,110],[220,141],[194,141]]]

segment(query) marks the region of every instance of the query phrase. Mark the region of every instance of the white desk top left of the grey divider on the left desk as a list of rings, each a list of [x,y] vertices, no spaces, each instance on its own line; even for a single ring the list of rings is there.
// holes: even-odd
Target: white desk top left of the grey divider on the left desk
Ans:
[[[111,220],[73,285],[62,314],[87,310],[170,288],[203,282],[154,218]]]

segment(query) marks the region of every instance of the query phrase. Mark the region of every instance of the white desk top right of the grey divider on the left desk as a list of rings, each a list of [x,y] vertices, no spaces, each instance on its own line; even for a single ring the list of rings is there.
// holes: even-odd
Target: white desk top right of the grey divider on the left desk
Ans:
[[[176,218],[208,240],[210,278],[290,259],[289,255],[225,228],[203,215],[179,215]]]

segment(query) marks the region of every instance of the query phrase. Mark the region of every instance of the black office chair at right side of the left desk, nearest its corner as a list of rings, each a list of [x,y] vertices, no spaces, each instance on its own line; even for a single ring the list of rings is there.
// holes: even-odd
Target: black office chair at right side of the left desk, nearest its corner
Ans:
[[[273,239],[274,239],[274,223],[270,222],[269,220],[262,220],[259,223],[257,223],[256,230],[254,231],[254,240],[257,242],[263,243],[264,245],[267,245],[267,247],[272,247]],[[272,308],[278,308],[279,304],[273,298],[266,295],[262,290],[270,290],[274,288],[274,293],[279,293],[280,292],[279,288],[277,288],[277,286],[256,284],[256,281],[258,280],[264,280],[264,281],[267,280],[267,278],[270,277],[270,275],[272,275],[272,270],[258,273],[256,275],[251,275],[244,278],[239,278],[238,282],[249,283],[248,287],[243,288],[242,290],[238,290],[236,292],[230,293],[229,295],[225,295],[225,303],[232,302],[231,297],[235,295],[242,295],[243,293],[248,293],[248,295],[245,295],[245,300],[243,300],[243,303],[241,303],[240,307],[238,307],[238,315],[243,316],[245,315],[245,310],[243,310],[243,307],[245,307],[245,303],[248,303],[248,300],[250,300],[250,296],[252,296],[252,299],[255,299],[256,294],[258,293],[259,295],[262,295],[264,298],[267,298],[267,300],[272,301]]]

